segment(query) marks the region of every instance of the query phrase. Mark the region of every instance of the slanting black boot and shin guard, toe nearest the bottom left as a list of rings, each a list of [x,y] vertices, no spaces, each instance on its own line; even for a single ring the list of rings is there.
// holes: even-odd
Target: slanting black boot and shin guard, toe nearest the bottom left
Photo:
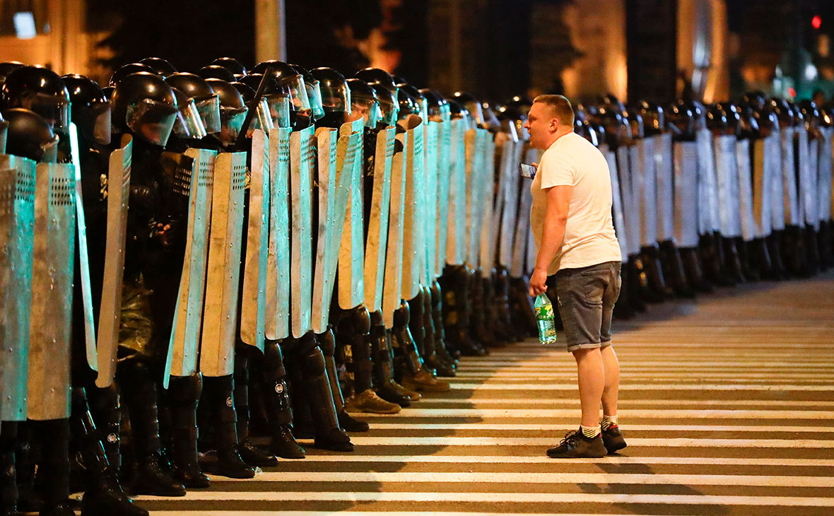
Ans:
[[[148,516],[148,511],[134,505],[118,483],[118,473],[108,461],[101,433],[93,423],[83,388],[73,388],[70,425],[87,473],[81,502],[82,516]]]

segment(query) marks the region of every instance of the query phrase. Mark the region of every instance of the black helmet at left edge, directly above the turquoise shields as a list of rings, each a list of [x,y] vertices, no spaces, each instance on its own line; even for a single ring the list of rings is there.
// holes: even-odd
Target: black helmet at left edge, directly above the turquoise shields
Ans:
[[[3,111],[3,118],[8,122],[6,152],[44,163],[58,160],[58,137],[38,113],[13,108]]]

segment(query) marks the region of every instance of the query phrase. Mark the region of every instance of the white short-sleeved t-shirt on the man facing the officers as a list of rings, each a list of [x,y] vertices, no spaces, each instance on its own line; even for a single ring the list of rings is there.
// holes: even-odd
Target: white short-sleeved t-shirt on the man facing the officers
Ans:
[[[572,186],[565,239],[548,275],[562,268],[580,268],[605,262],[620,262],[620,245],[611,221],[611,178],[600,151],[576,133],[556,140],[541,156],[530,191],[533,208],[530,225],[536,249],[547,214],[547,188]]]

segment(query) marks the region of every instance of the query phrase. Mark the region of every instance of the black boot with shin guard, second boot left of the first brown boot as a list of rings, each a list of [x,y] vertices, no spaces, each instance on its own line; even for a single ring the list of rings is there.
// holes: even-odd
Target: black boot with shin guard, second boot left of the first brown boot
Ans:
[[[336,452],[354,451],[348,434],[339,427],[324,354],[319,346],[315,345],[313,333],[304,335],[299,346],[302,348],[299,357],[303,368],[302,381],[315,424],[315,447]]]

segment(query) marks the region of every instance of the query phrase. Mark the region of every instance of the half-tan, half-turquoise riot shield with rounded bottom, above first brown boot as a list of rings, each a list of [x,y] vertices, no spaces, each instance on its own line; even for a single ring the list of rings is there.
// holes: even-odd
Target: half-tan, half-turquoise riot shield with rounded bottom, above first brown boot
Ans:
[[[337,213],[337,217],[344,213],[344,216],[341,216],[344,217],[344,228],[338,252],[339,307],[345,310],[356,308],[364,301],[363,138],[364,127],[361,118],[352,123],[344,123],[339,128],[337,162],[342,167],[341,183],[348,188],[347,211]],[[337,205],[336,208],[341,206]],[[335,242],[338,243],[339,239]]]

